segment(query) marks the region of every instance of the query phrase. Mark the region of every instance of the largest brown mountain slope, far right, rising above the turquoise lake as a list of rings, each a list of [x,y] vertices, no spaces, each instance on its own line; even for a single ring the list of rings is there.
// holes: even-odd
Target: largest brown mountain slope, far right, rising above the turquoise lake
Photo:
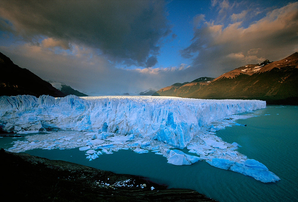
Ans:
[[[260,64],[258,64],[260,66]],[[258,99],[267,104],[298,104],[298,53],[271,62],[255,73],[216,78],[191,94],[201,99]],[[228,72],[228,74],[231,72]]]

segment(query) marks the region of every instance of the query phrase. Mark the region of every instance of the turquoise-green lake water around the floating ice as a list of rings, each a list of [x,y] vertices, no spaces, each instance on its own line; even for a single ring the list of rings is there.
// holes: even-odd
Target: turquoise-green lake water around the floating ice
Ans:
[[[78,148],[34,149],[25,153],[114,173],[144,176],[156,183],[167,184],[169,188],[196,190],[220,202],[298,201],[298,106],[267,105],[255,112],[258,116],[236,121],[246,127],[233,125],[217,131],[216,135],[228,143],[238,143],[242,147],[237,151],[266,165],[280,177],[275,183],[263,183],[202,161],[192,165],[171,165],[166,158],[152,152],[137,154],[120,150],[100,155],[92,161]],[[12,141],[23,139],[2,137],[0,146],[7,149]]]

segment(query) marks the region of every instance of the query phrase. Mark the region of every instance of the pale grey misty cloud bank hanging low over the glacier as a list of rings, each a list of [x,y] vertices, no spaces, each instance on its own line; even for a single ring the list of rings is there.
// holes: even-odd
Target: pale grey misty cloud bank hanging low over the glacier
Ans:
[[[55,54],[43,46],[30,43],[23,46],[1,47],[1,52],[22,68],[27,68],[44,80],[70,85],[87,95],[136,93],[149,88],[160,89],[175,82],[191,81],[181,64],[171,68],[115,68],[93,49],[78,49],[77,55]],[[89,55],[94,57],[90,58]]]

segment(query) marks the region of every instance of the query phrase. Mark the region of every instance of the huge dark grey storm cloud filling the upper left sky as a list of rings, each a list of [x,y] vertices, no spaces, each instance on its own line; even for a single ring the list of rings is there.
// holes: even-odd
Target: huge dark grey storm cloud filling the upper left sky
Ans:
[[[164,1],[0,1],[0,28],[99,48],[109,59],[145,65],[170,27]],[[148,61],[147,61],[148,62]]]

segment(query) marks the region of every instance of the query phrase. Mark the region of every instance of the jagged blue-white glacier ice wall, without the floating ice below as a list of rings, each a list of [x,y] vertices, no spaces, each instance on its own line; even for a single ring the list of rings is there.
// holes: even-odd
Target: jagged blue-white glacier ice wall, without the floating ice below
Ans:
[[[259,100],[201,100],[177,97],[103,96],[0,97],[0,128],[134,134],[184,148],[201,126],[225,116],[266,107]]]

